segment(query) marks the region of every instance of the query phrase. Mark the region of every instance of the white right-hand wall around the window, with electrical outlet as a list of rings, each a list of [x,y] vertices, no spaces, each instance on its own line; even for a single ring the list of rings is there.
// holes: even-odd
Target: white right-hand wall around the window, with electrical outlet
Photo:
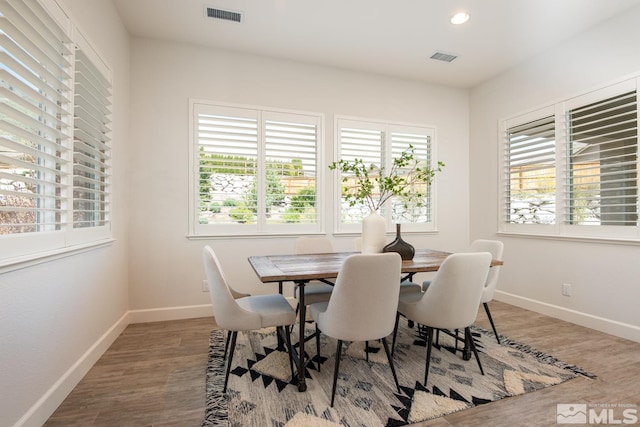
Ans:
[[[471,91],[472,239],[496,237],[498,121],[640,74],[639,20],[640,8],[628,11]],[[640,246],[498,238],[498,299],[640,341]]]

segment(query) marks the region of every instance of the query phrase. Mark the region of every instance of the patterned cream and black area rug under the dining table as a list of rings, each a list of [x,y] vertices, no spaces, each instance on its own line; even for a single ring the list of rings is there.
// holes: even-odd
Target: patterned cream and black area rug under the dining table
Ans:
[[[223,337],[223,331],[211,333],[203,426],[403,426],[529,393],[577,375],[595,378],[507,337],[501,336],[502,345],[498,345],[491,332],[474,327],[485,375],[480,374],[473,356],[463,360],[462,352],[455,351],[454,339],[441,333],[439,345],[434,344],[431,352],[425,388],[425,341],[401,319],[394,364],[402,393],[395,388],[381,343],[370,343],[369,362],[365,361],[364,343],[345,343],[331,408],[335,340],[322,336],[321,360],[315,356],[315,340],[306,343],[312,359],[306,370],[307,391],[300,393],[289,383],[289,359],[276,350],[275,330],[238,334],[223,395]]]

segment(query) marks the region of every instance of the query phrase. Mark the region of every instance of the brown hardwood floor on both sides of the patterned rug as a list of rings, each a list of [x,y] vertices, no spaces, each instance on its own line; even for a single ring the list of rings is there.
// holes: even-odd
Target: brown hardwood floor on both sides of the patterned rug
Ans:
[[[490,307],[499,333],[598,378],[580,377],[417,426],[551,426],[559,403],[640,406],[640,343],[497,301]],[[490,328],[482,309],[477,324]],[[213,318],[130,325],[45,426],[199,426],[215,327]],[[620,419],[621,411],[616,414]]]

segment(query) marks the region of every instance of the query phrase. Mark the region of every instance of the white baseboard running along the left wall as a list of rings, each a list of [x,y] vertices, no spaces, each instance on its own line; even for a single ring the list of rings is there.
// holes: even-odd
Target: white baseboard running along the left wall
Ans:
[[[105,332],[45,394],[18,420],[13,427],[40,427],[55,412],[64,399],[78,385],[100,356],[113,344],[129,324],[129,312]]]

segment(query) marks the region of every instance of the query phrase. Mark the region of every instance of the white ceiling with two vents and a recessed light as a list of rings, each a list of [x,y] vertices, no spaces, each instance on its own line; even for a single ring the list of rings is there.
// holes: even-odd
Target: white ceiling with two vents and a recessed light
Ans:
[[[640,0],[113,0],[132,36],[473,87]],[[206,7],[241,12],[240,23]],[[454,12],[470,19],[454,26]],[[435,52],[452,62],[429,59]]]

